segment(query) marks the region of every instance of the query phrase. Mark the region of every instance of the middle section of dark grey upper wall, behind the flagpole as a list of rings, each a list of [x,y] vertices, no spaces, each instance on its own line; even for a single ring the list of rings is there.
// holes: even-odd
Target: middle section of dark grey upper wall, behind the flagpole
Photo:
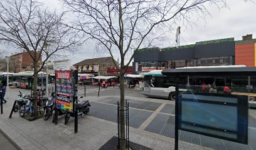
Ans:
[[[188,59],[195,59],[195,48],[161,51],[159,54],[159,61],[178,61]]]

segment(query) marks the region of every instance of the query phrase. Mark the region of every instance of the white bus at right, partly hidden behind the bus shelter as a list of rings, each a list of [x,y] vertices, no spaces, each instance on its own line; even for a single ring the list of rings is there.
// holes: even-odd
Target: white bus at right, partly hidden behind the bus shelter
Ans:
[[[200,67],[185,67],[177,69],[193,69],[193,68],[245,68],[244,65],[233,66],[200,66]],[[167,98],[171,101],[175,99],[175,79],[169,76],[163,76],[162,70],[150,71],[144,76],[144,91],[143,94],[154,98]],[[256,78],[252,77],[249,80],[246,78],[228,78],[228,77],[191,77],[179,78],[179,91],[187,91],[187,86],[191,85],[193,91],[201,92],[202,84],[215,86],[218,93],[223,92],[225,86],[232,89],[233,94],[247,93],[247,86],[250,85],[253,88],[250,89],[250,94],[256,93]],[[255,98],[256,99],[256,98]]]

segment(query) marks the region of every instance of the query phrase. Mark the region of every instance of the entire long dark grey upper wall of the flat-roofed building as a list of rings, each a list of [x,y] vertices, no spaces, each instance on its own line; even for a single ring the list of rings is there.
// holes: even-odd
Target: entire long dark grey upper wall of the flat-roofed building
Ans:
[[[177,61],[196,58],[213,58],[220,56],[235,56],[235,42],[214,44],[196,44],[195,47],[168,51],[141,51],[134,56],[134,62],[140,61]]]

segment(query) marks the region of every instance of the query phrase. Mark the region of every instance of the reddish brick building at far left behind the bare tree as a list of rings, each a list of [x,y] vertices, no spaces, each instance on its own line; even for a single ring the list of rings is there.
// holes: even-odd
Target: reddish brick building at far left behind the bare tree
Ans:
[[[38,54],[39,56],[39,54]],[[42,61],[42,58],[40,56],[40,63]],[[39,68],[40,64],[38,64]],[[33,71],[34,70],[34,64],[33,59],[29,55],[27,51],[24,51],[23,53],[13,54],[10,57],[9,61],[9,69],[10,72],[18,73],[21,71]]]

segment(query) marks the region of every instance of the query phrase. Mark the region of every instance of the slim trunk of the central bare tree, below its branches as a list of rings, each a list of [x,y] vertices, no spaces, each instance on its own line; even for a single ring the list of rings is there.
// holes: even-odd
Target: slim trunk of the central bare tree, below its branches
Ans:
[[[125,148],[125,119],[124,119],[124,66],[120,68],[120,150]]]

